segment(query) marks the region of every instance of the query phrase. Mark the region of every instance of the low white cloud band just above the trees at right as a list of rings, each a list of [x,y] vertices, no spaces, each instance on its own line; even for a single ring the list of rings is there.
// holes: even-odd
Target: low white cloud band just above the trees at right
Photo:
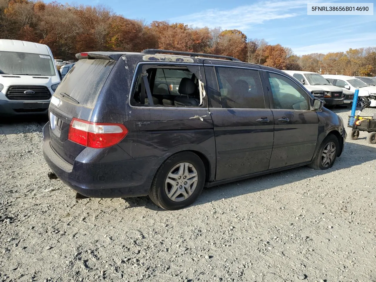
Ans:
[[[331,42],[320,44],[306,45],[303,47],[293,47],[296,55],[305,55],[310,53],[329,53],[329,52],[345,52],[350,48],[356,49],[361,47],[376,46],[376,32],[357,34],[356,37],[339,39]]]

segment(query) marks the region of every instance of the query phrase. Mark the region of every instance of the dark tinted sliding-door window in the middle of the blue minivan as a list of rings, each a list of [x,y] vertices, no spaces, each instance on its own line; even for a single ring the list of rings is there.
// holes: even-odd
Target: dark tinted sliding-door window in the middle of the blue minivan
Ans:
[[[215,67],[221,108],[265,109],[264,93],[257,70]]]

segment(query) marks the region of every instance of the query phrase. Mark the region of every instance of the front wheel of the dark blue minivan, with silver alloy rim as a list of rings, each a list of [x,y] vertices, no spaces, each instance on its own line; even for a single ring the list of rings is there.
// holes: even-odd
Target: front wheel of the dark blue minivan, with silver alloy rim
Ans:
[[[333,134],[329,134],[321,143],[315,157],[308,166],[315,170],[326,170],[331,168],[337,158],[339,149],[340,147],[337,137]]]

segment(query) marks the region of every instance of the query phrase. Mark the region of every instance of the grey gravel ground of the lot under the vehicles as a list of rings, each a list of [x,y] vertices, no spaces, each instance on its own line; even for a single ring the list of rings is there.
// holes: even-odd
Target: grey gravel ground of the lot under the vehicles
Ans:
[[[348,109],[335,111],[347,122]],[[0,124],[1,282],[376,281],[366,133],[329,170],[205,188],[193,206],[164,211],[147,197],[76,200],[47,177],[44,123]]]

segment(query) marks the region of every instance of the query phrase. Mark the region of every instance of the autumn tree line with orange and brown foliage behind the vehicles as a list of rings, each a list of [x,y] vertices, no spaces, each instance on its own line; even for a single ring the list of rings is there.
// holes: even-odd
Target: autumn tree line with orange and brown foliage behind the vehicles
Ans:
[[[0,38],[47,44],[56,59],[88,51],[139,52],[157,48],[232,56],[281,70],[375,76],[376,47],[297,56],[288,47],[247,38],[237,29],[190,27],[183,23],[146,24],[104,6],[0,0]]]

